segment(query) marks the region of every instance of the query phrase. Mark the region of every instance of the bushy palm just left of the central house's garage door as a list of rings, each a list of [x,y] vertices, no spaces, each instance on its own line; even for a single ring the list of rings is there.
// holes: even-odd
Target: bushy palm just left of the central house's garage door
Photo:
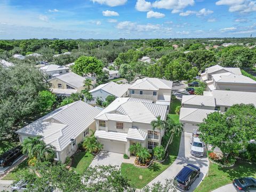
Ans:
[[[97,141],[97,138],[92,134],[83,141],[83,148],[89,153],[97,154],[103,148],[103,145]]]

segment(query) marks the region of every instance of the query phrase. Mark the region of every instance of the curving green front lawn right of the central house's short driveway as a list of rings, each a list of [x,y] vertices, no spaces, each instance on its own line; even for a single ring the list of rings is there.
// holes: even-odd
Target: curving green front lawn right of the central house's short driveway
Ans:
[[[136,188],[141,189],[145,187],[151,180],[162,173],[175,161],[179,153],[180,137],[181,134],[174,136],[173,142],[167,149],[169,151],[169,156],[164,163],[161,164],[155,162],[148,169],[135,167],[133,164],[129,163],[122,163],[122,174],[125,175]],[[140,176],[142,176],[142,179],[140,179]]]

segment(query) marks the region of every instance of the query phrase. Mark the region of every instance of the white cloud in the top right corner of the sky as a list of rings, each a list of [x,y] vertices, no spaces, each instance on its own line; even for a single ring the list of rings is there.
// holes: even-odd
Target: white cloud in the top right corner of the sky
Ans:
[[[256,11],[256,1],[252,0],[220,0],[216,5],[229,6],[229,12],[249,13]]]

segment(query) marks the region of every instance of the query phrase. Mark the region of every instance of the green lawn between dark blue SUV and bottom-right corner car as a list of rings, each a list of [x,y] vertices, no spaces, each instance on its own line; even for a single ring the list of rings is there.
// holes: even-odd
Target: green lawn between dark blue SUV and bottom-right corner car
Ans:
[[[238,161],[234,167],[221,167],[210,163],[209,174],[196,188],[195,192],[209,192],[232,182],[233,179],[241,177],[256,178],[256,164]]]

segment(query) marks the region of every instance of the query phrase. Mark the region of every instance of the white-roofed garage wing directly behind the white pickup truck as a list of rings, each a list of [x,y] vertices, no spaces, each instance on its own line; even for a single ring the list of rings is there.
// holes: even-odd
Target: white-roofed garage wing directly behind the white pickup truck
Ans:
[[[194,130],[198,129],[198,124],[202,123],[203,119],[213,112],[215,110],[181,107],[179,118],[183,125],[183,131],[193,133]]]

